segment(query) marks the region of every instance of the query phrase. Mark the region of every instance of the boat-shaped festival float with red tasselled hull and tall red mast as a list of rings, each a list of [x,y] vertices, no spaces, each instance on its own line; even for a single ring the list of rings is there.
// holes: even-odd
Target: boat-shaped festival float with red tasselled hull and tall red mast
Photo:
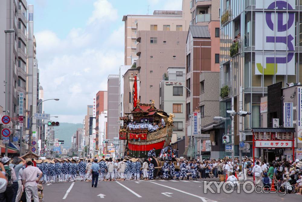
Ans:
[[[161,109],[156,109],[154,100],[151,103],[140,103],[139,82],[137,76],[129,79],[130,86],[133,87],[133,110],[125,113],[126,116],[120,117],[124,125],[120,127],[119,139],[126,142],[124,156],[129,158],[148,158],[148,152],[155,148],[156,156],[159,156],[161,150],[169,146],[173,133],[174,114],[167,114]],[[140,125],[139,127],[129,127],[130,124]],[[154,124],[155,123],[155,124]],[[156,126],[156,130],[149,130],[146,126]],[[143,126],[143,127],[142,127]],[[174,159],[175,160],[175,159]],[[155,167],[162,163],[159,159],[152,159]],[[155,171],[158,172],[158,169]]]

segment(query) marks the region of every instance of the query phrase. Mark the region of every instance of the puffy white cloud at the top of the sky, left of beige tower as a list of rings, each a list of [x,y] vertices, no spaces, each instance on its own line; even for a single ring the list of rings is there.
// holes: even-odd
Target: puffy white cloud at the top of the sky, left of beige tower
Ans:
[[[93,3],[94,10],[87,24],[97,24],[103,21],[114,21],[117,19],[117,10],[107,0],[98,0]]]

